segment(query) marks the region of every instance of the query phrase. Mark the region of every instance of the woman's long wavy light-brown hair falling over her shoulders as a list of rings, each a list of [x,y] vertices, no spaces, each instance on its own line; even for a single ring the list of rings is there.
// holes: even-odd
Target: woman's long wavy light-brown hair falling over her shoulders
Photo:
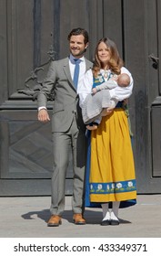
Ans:
[[[99,40],[99,42],[96,45],[95,50],[95,61],[94,61],[94,67],[93,67],[93,73],[96,77],[99,70],[103,68],[101,61],[98,58],[98,46],[100,43],[105,43],[106,47],[109,48],[111,58],[108,62],[108,68],[112,70],[115,74],[120,74],[121,67],[123,67],[123,60],[120,58],[118,50],[116,48],[116,44],[114,41],[107,37],[103,37]]]

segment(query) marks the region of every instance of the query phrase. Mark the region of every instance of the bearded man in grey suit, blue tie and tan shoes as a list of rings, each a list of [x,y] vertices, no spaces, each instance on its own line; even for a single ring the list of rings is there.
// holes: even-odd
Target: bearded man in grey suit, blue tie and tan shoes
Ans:
[[[80,80],[83,79],[86,70],[92,68],[93,64],[84,57],[88,47],[88,34],[85,29],[80,27],[73,29],[67,39],[70,56],[52,61],[42,90],[37,96],[38,120],[45,123],[50,121],[46,110],[46,101],[52,91],[55,94],[52,115],[54,173],[52,176],[51,217],[47,222],[48,227],[57,227],[62,223],[62,214],[65,209],[65,176],[69,161],[69,147],[72,149],[74,170],[73,220],[77,225],[86,224],[86,219],[83,216],[86,127],[79,107],[78,91]]]

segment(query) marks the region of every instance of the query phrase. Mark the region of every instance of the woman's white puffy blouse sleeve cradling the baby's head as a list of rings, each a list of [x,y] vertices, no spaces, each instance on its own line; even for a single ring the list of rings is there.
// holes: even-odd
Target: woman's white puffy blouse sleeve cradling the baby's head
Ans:
[[[109,91],[111,98],[116,99],[117,101],[123,101],[123,100],[129,98],[130,95],[132,94],[133,85],[134,85],[134,80],[132,78],[132,75],[125,67],[123,67],[121,69],[121,73],[126,73],[127,75],[129,75],[130,83],[126,87],[116,86],[116,88],[111,89]]]

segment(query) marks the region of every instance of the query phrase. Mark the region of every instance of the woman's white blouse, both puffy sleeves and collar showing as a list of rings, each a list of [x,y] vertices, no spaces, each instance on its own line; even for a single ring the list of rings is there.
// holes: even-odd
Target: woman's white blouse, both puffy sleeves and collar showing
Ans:
[[[103,69],[101,69],[100,72],[104,75],[105,71]],[[110,93],[112,100],[123,101],[123,100],[129,98],[130,95],[132,94],[134,81],[133,81],[131,73],[125,67],[121,68],[121,73],[126,73],[127,75],[129,75],[130,84],[126,87],[116,86],[116,88],[110,89],[109,93]],[[93,87],[93,82],[94,82],[94,80],[93,80],[92,69],[89,69],[86,71],[84,79],[80,81],[79,89],[77,91],[77,93],[79,94],[79,98],[80,98],[80,107],[83,106],[86,96],[89,93],[91,93],[92,87]]]

